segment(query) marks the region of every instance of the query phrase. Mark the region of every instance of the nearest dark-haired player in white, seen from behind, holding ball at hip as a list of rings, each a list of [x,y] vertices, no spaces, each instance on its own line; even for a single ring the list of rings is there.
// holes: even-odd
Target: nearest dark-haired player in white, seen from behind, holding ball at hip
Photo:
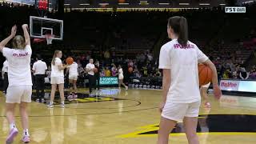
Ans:
[[[198,63],[210,66],[213,70],[214,95],[221,97],[217,71],[214,64],[188,41],[186,18],[172,17],[168,20],[167,32],[172,40],[162,46],[159,56],[159,69],[163,70],[163,100],[159,106],[162,113],[158,144],[167,144],[169,134],[177,122],[183,121],[186,138],[190,144],[198,144],[196,133],[200,107]]]

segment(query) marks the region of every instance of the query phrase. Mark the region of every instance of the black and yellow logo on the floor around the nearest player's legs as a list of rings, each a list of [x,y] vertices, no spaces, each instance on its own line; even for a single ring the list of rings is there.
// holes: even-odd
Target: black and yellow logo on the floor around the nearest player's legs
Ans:
[[[198,117],[198,134],[255,134],[256,115],[247,114],[209,114]],[[122,134],[118,138],[157,137],[159,125],[142,126],[140,130],[130,134]],[[172,136],[185,135],[182,122],[178,122]]]

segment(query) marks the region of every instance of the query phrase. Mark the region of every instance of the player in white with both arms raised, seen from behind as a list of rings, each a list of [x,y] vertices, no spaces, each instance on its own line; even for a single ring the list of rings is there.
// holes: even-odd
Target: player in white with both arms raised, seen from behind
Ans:
[[[30,142],[28,114],[26,107],[31,102],[32,94],[32,78],[30,70],[30,58],[32,54],[30,46],[30,35],[28,33],[28,25],[22,25],[24,38],[16,35],[17,26],[13,26],[11,34],[8,38],[0,42],[0,50],[8,61],[8,80],[9,86],[6,94],[6,118],[10,124],[10,134],[6,138],[6,143],[14,142],[14,138],[18,134],[15,126],[14,111],[18,104],[21,119],[23,136],[22,142]],[[6,44],[12,39],[13,49],[6,48]]]

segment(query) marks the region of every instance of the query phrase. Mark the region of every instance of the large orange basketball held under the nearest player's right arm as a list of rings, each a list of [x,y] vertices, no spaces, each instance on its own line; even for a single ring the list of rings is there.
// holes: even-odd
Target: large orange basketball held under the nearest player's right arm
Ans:
[[[213,72],[209,66],[199,64],[198,65],[198,75],[199,75],[199,86],[203,86],[211,82],[213,78]]]

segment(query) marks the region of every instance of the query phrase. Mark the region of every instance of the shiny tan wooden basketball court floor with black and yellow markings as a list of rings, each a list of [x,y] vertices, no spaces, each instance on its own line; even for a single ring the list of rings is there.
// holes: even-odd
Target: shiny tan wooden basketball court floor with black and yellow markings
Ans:
[[[32,102],[29,107],[31,143],[156,143],[162,90],[106,88],[94,98],[88,97],[85,91],[79,90],[76,100],[66,100],[65,109],[57,105],[58,100],[54,109]],[[5,102],[2,94],[0,100]],[[223,95],[217,102],[210,94],[210,102],[212,108],[201,107],[198,118],[202,144],[256,143],[256,98]],[[5,142],[9,124],[4,105],[0,110],[0,142]],[[18,129],[22,130],[18,111],[16,118]],[[21,143],[20,139],[19,134],[14,143]],[[187,143],[182,123],[170,134],[170,143]]]

